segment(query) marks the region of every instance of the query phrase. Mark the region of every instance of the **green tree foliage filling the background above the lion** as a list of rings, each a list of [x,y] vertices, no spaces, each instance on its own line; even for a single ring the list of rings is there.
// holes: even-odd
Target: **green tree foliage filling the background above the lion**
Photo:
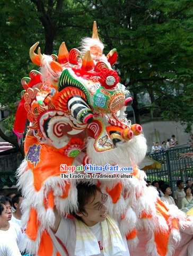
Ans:
[[[138,93],[150,94],[153,107],[171,120],[192,124],[193,2],[190,0],[19,0],[0,3],[0,102],[20,99],[20,80],[37,69],[29,48],[40,41],[42,53],[57,54],[91,36],[98,22],[104,53],[117,48],[115,68],[133,92],[140,123]]]

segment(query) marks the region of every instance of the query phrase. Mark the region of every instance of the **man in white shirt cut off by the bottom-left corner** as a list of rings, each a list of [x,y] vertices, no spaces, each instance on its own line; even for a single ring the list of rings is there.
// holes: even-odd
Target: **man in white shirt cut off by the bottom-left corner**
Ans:
[[[0,202],[0,255],[21,256],[16,241],[4,230],[4,227],[7,225],[8,221],[8,214],[6,211],[5,204]]]

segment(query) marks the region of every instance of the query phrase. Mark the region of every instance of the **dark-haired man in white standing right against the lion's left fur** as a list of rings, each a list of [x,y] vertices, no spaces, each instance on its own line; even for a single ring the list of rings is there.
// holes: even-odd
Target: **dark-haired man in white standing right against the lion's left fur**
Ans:
[[[22,211],[21,211],[21,203],[23,201],[22,194],[16,194],[15,197],[12,199],[12,204],[15,209],[15,212],[12,214],[12,221],[20,226],[21,229],[21,246],[22,246],[22,241],[25,238],[25,231],[26,231],[26,225],[23,226],[21,222],[21,217],[22,217]],[[20,249],[21,249],[20,246]],[[22,252],[22,255],[25,255],[25,252]]]

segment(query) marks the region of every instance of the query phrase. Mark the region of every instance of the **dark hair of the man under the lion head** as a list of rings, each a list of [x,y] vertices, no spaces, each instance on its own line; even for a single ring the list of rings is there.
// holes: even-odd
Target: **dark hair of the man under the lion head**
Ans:
[[[83,215],[84,215],[84,213],[87,214],[86,211],[84,210],[85,204],[87,202],[89,202],[89,199],[93,195],[94,195],[94,199],[95,199],[96,191],[97,190],[100,191],[100,189],[96,185],[90,184],[89,182],[80,182],[76,185],[76,188],[77,188],[77,195],[78,195],[78,210],[77,211],[80,211]],[[81,217],[77,216],[76,212],[73,211],[72,215],[76,219],[81,220]]]

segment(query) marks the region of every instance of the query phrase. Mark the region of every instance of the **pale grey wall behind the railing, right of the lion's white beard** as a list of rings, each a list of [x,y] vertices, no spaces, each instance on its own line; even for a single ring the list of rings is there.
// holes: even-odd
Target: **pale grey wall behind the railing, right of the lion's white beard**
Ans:
[[[184,132],[185,127],[179,122],[173,121],[152,121],[142,124],[143,132],[147,140],[148,151],[151,151],[153,142],[167,142],[171,135],[176,135],[179,145],[187,144],[189,134]],[[192,127],[193,128],[193,127]]]

